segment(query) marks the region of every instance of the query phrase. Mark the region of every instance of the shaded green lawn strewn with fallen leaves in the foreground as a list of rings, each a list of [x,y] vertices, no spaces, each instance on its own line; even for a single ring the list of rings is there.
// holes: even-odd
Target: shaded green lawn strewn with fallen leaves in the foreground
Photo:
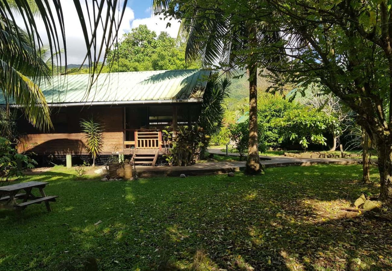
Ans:
[[[340,209],[378,193],[361,174],[321,165],[101,182],[55,167],[25,178],[60,196],[51,213],[0,210],[0,270],[80,270],[87,256],[102,270],[390,270],[392,224]]]

